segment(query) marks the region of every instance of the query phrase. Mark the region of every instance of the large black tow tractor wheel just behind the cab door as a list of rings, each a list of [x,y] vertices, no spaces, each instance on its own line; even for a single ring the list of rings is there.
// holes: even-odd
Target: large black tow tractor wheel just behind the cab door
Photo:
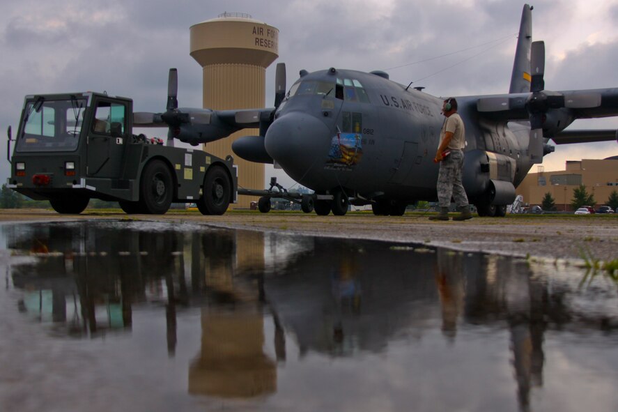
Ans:
[[[139,207],[143,213],[163,215],[173,198],[173,178],[162,160],[153,160],[144,167],[139,183]]]

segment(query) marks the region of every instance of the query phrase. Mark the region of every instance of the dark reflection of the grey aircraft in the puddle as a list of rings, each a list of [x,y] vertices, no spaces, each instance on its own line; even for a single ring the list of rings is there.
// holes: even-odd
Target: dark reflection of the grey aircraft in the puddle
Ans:
[[[301,356],[381,353],[400,339],[421,341],[438,319],[453,344],[458,328],[503,328],[506,322],[523,411],[532,388],[543,385],[548,319],[557,325],[566,320],[559,291],[551,299],[525,262],[446,250],[394,252],[362,241],[320,240],[315,256],[267,279],[265,289]]]

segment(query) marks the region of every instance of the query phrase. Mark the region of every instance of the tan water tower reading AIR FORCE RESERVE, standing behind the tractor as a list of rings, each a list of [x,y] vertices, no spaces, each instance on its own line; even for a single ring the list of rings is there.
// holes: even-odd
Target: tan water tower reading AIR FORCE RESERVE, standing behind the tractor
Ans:
[[[265,106],[266,68],[278,56],[279,29],[249,15],[224,13],[191,26],[190,54],[203,68],[203,107],[255,109]],[[231,137],[205,145],[220,158],[233,155],[231,145],[242,136],[258,135],[257,129],[235,132]],[[264,165],[236,159],[238,186],[263,189]],[[252,197],[238,197],[239,208],[249,208]]]

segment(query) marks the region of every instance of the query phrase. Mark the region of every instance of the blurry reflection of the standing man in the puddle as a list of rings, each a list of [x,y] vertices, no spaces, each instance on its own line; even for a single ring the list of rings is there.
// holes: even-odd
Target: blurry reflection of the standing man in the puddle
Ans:
[[[465,290],[461,256],[450,255],[451,252],[438,250],[435,266],[435,284],[442,307],[442,333],[449,339],[455,339],[457,320],[463,309]]]

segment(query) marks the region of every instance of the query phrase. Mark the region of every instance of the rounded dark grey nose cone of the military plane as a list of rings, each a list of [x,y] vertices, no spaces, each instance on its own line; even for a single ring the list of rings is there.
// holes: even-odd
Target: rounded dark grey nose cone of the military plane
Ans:
[[[266,151],[288,174],[294,174],[294,170],[307,171],[328,153],[329,144],[327,126],[302,112],[281,116],[270,125],[265,136]]]

